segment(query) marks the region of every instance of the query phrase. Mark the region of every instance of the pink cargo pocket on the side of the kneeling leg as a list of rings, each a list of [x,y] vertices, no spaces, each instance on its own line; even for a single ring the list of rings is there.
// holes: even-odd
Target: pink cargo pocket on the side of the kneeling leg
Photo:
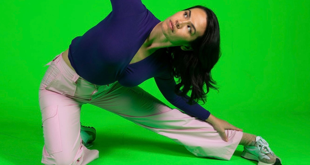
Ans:
[[[45,149],[48,154],[62,151],[58,106],[47,106],[42,111],[42,128]]]

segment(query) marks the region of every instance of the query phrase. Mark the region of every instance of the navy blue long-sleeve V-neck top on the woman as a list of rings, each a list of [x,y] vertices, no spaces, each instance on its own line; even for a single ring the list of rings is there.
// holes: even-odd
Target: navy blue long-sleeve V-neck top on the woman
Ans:
[[[210,112],[197,102],[186,103],[174,93],[175,79],[168,63],[165,48],[136,63],[129,64],[153,28],[160,23],[141,0],[110,0],[112,11],[82,36],[75,37],[69,46],[69,61],[85,80],[95,85],[118,81],[134,87],[154,77],[164,98],[175,107],[201,120]]]

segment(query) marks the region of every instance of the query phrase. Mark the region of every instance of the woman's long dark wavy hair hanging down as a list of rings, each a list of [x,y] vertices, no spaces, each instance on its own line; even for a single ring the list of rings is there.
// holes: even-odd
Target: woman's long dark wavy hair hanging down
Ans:
[[[193,105],[199,100],[202,100],[203,104],[205,104],[209,88],[216,89],[219,92],[218,88],[212,85],[216,85],[216,81],[212,79],[211,69],[221,56],[219,22],[216,15],[209,8],[201,5],[183,11],[192,8],[201,8],[207,14],[207,28],[204,34],[190,43],[193,50],[184,51],[180,46],[167,47],[166,49],[166,52],[170,54],[168,56],[172,64],[173,76],[178,78],[175,93],[185,97],[188,91],[191,90],[191,96],[187,102],[189,105]],[[204,84],[206,84],[206,93],[204,93]],[[182,86],[183,88],[180,90]]]

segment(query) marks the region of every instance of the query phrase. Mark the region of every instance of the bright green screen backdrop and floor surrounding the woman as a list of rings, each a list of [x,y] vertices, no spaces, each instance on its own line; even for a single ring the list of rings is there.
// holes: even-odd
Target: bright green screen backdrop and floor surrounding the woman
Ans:
[[[222,57],[212,69],[220,92],[211,89],[211,114],[262,136],[284,164],[309,163],[310,1],[143,0],[161,21],[185,8],[203,5],[220,25]],[[38,88],[55,55],[112,11],[108,0],[0,1],[0,164],[41,164],[44,145]],[[154,79],[141,85],[171,108]],[[196,157],[167,137],[113,113],[83,105],[83,125],[100,151],[90,164],[257,164]]]

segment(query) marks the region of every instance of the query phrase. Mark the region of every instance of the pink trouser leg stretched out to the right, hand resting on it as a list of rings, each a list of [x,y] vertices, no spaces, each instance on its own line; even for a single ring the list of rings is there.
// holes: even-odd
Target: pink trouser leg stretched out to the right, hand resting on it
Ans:
[[[168,137],[196,156],[229,160],[243,134],[226,130],[226,142],[210,123],[170,108],[139,86],[126,88],[116,83],[89,103]]]

